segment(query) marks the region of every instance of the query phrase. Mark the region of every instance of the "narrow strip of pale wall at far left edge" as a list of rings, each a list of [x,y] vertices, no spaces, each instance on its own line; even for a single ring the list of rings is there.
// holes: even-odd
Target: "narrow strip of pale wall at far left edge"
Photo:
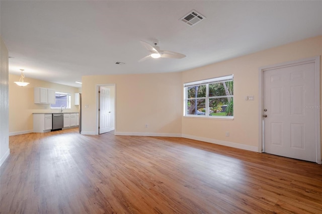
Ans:
[[[0,37],[0,166],[9,156],[9,53]]]

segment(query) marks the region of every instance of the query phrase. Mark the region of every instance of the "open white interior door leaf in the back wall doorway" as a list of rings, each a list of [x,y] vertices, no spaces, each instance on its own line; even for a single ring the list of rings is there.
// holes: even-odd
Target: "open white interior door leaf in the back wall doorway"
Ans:
[[[111,124],[111,99],[110,88],[100,86],[100,109],[99,109],[99,134],[113,130]]]

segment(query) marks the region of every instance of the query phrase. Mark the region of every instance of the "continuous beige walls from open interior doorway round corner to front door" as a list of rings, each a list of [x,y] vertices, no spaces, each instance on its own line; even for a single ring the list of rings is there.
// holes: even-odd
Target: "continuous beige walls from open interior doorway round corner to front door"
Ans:
[[[179,134],[258,151],[260,68],[320,55],[322,36],[179,73],[83,76],[83,109],[89,106],[84,109],[83,130],[96,133],[96,85],[115,83],[117,134]],[[233,120],[182,116],[183,83],[228,74],[234,75]],[[246,101],[246,95],[254,95],[255,100]]]

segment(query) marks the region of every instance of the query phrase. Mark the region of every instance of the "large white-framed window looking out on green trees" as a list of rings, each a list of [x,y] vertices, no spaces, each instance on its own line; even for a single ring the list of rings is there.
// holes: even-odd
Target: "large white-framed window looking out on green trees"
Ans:
[[[184,84],[184,116],[233,118],[233,75]]]

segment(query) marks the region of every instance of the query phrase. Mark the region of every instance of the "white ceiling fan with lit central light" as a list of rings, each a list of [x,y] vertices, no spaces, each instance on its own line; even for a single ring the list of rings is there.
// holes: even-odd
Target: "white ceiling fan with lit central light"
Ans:
[[[143,60],[152,57],[154,59],[157,58],[175,58],[175,59],[181,59],[186,57],[186,55],[181,54],[181,53],[177,53],[177,52],[173,52],[173,51],[164,51],[164,50],[160,50],[160,48],[157,46],[157,43],[154,43],[154,46],[150,45],[147,42],[144,41],[140,41],[141,44],[144,46],[144,48],[146,50],[148,50],[149,55],[143,57],[142,59],[139,60],[139,62],[142,62]]]

